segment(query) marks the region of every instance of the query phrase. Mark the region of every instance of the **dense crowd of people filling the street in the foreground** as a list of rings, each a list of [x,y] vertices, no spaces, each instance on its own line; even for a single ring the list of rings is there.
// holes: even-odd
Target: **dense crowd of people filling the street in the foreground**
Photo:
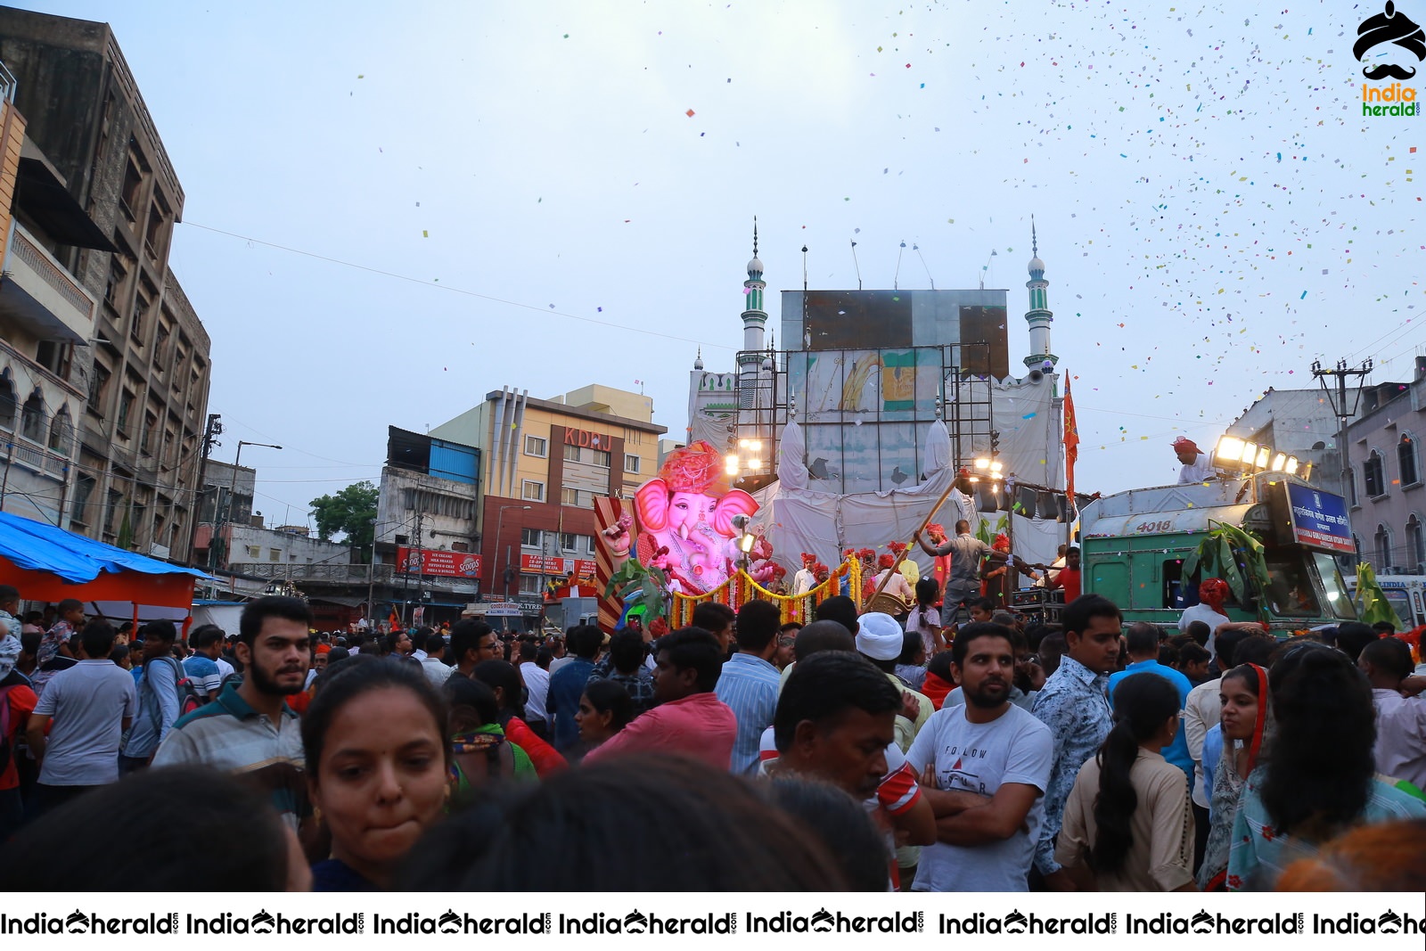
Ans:
[[[1426,884],[1400,639],[914,596],[548,637],[322,634],[262,597],[184,637],[0,586],[0,887],[191,888],[197,843],[210,891]]]

